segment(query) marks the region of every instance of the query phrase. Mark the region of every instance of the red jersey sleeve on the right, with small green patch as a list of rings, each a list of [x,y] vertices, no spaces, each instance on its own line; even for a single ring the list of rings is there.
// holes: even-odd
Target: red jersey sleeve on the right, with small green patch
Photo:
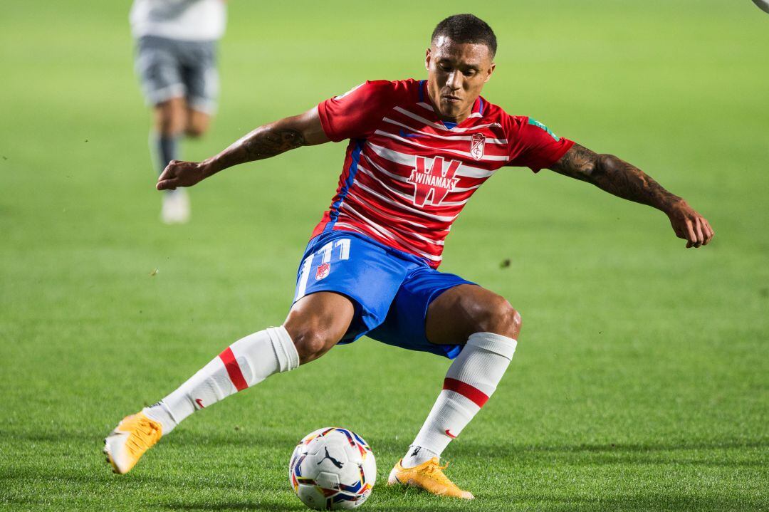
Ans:
[[[528,167],[534,172],[553,165],[574,145],[574,141],[558,137],[532,118],[514,118],[509,130],[510,161],[507,165]]]

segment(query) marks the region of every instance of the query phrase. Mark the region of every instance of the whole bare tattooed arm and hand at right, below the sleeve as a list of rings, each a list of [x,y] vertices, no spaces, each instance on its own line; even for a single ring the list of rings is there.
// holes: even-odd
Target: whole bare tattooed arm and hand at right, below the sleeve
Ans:
[[[683,198],[671,194],[651,176],[621,158],[599,155],[574,144],[550,169],[592,183],[620,198],[664,211],[677,237],[686,240],[687,248],[707,245],[713,239],[714,231],[707,219]]]

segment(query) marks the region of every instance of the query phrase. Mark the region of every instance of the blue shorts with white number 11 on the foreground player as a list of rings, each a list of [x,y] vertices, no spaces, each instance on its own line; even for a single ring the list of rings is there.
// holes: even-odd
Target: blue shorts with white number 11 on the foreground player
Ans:
[[[431,268],[412,254],[352,231],[326,231],[305,249],[294,302],[318,291],[345,295],[355,316],[340,343],[363,335],[377,341],[453,359],[462,345],[430,343],[424,333],[428,306],[458,284],[474,284]]]

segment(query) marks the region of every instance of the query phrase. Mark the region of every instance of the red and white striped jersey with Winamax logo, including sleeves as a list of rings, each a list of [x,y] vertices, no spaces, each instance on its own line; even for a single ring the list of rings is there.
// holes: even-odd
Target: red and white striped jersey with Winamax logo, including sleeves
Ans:
[[[332,141],[350,139],[339,186],[313,236],[355,231],[437,268],[470,196],[505,165],[539,171],[574,142],[479,97],[458,125],[441,121],[427,81],[367,81],[318,105]]]

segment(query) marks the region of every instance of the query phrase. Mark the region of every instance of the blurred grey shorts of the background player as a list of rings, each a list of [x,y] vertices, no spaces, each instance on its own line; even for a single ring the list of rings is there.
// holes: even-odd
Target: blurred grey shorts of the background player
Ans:
[[[177,41],[145,35],[136,41],[136,74],[148,105],[186,98],[212,114],[219,94],[215,41]]]

